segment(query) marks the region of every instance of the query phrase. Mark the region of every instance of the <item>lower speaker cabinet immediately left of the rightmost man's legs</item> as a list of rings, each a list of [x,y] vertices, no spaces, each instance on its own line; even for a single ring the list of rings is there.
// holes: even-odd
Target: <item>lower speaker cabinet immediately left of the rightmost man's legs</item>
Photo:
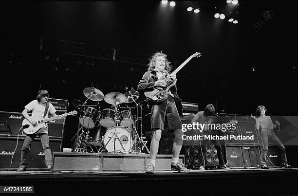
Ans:
[[[245,167],[261,166],[261,154],[259,146],[243,146]]]

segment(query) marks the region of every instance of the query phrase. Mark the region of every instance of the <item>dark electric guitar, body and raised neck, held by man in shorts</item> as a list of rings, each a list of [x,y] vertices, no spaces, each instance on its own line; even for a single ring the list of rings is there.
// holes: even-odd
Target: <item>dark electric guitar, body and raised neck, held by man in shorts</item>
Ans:
[[[194,53],[189,56],[186,61],[184,61],[172,74],[176,74],[180,71],[193,57],[200,57],[202,53]],[[158,80],[165,80],[167,85],[165,87],[154,87],[153,91],[144,92],[145,96],[152,102],[162,102],[167,98],[168,89],[174,86],[177,82],[177,79],[173,80],[170,74],[164,72],[163,75]]]

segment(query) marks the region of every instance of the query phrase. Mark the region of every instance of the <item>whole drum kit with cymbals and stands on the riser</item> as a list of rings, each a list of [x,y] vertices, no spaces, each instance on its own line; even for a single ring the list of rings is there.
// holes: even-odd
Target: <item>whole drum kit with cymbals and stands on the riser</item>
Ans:
[[[140,107],[136,103],[140,95],[138,91],[131,88],[125,94],[110,92],[104,95],[99,89],[88,87],[83,93],[87,98],[84,103],[79,100],[72,101],[72,104],[81,111],[78,130],[72,139],[75,139],[72,146],[75,152],[143,153],[146,149],[146,153],[149,153],[147,141],[143,140],[145,137],[140,137],[137,132],[138,120],[142,118],[142,114],[138,117]],[[86,105],[88,100],[94,102],[104,100],[112,106],[101,110],[99,105]],[[126,104],[129,103],[135,103],[136,106],[128,107]],[[127,107],[120,107],[121,104]],[[136,110],[136,116],[131,114],[131,109]],[[102,131],[102,128],[105,130]]]

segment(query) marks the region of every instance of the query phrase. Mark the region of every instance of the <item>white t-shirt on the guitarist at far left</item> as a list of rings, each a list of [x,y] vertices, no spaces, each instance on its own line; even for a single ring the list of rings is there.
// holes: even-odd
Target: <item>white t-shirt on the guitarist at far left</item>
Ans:
[[[32,110],[32,116],[33,117],[38,117],[38,118],[43,118],[44,115],[44,110],[45,110],[45,105],[40,104],[37,100],[33,100],[29,104],[25,106],[25,108],[28,109],[28,111]],[[50,103],[48,112],[44,118],[48,118],[48,114],[53,114],[56,112],[55,107]],[[48,133],[47,129],[39,129],[36,133]]]

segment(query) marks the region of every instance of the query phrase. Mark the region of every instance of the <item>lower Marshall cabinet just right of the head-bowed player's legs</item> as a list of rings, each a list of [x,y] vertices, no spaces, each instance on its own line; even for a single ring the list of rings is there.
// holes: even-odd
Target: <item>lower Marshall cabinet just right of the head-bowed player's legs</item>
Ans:
[[[227,166],[230,168],[244,168],[241,146],[226,146]]]

